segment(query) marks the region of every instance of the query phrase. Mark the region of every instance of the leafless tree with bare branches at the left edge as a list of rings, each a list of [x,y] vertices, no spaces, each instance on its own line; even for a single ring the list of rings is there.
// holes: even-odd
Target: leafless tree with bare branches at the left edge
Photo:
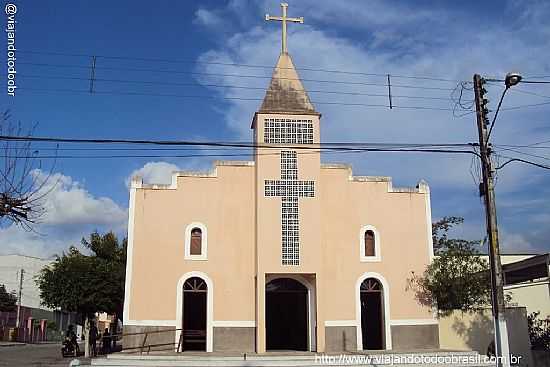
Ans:
[[[8,111],[0,115],[0,222],[7,220],[26,230],[44,215],[43,199],[55,187],[48,184],[55,164],[43,174],[38,151],[28,140],[35,127],[25,131]]]

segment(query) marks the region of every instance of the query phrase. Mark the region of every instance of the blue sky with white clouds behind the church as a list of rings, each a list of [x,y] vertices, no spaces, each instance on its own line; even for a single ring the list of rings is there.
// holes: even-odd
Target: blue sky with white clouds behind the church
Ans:
[[[304,25],[289,25],[289,51],[299,68],[431,76],[456,81],[469,81],[475,72],[493,77],[503,77],[511,70],[526,76],[550,75],[550,25],[547,22],[550,5],[544,1],[486,1],[481,4],[474,1],[288,2],[290,16],[305,18]],[[263,90],[220,89],[209,85],[264,88],[268,79],[227,74],[269,76],[271,70],[203,62],[274,65],[280,50],[280,25],[267,23],[263,18],[266,12],[280,12],[277,1],[12,3],[18,7],[16,67],[19,90],[14,98],[3,92],[0,107],[10,109],[14,119],[24,124],[38,123],[37,135],[250,140],[250,120],[260,102],[246,99],[262,98]],[[3,36],[3,47],[5,42]],[[90,95],[85,93],[89,88],[89,69],[86,67],[91,63],[90,57],[44,53],[98,55],[97,79],[160,84],[98,80],[96,91],[114,94]],[[114,56],[125,58],[111,58]],[[6,57],[5,53],[2,57]],[[310,80],[384,82],[376,76],[313,71],[300,71],[300,74],[303,79]],[[442,89],[456,85],[456,82],[397,77],[393,80],[401,85]],[[2,81],[5,82],[5,75]],[[304,84],[308,90],[386,93],[384,88],[377,86]],[[497,85],[488,89],[494,108],[502,89]],[[120,94],[128,92],[147,95]],[[548,96],[550,87],[520,86],[510,91],[503,106],[549,101],[548,97],[524,92]],[[394,93],[416,97],[450,96],[448,90],[404,87],[395,87]],[[449,111],[390,111],[322,103],[386,104],[384,97],[320,93],[310,93],[310,96],[320,102],[316,107],[323,114],[323,141],[464,143],[477,140],[472,115],[456,118]],[[409,106],[452,107],[449,100],[398,99],[398,102]],[[548,112],[550,105],[503,110],[494,131],[494,143],[529,144],[550,140]],[[41,150],[43,148],[46,148],[44,144],[35,146],[41,154],[47,154],[48,151]],[[523,151],[550,156],[549,149]],[[60,152],[63,153],[66,152]],[[542,158],[522,157],[548,163]],[[162,182],[168,179],[171,170],[208,169],[212,160],[61,159],[54,167],[59,183],[48,198],[48,215],[38,226],[41,234],[4,224],[0,228],[0,252],[48,256],[77,244],[93,229],[113,229],[123,234],[129,177],[139,173],[148,181]],[[469,157],[372,153],[331,155],[324,160],[350,162],[355,174],[392,176],[396,186],[414,186],[423,178],[431,186],[434,219],[443,215],[464,216],[465,224],[457,235],[471,239],[484,237],[483,208],[470,174]],[[550,250],[549,184],[550,171],[542,169],[510,164],[499,172],[496,189],[505,251]]]

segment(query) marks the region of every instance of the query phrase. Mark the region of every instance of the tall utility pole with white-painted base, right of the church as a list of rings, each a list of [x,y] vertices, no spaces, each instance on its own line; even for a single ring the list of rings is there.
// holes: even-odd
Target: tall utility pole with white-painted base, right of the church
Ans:
[[[495,205],[494,173],[491,163],[491,144],[488,142],[487,125],[489,112],[485,98],[487,92],[483,85],[485,80],[479,75],[474,75],[474,92],[477,112],[477,129],[479,133],[479,154],[481,158],[481,171],[483,182],[480,184],[481,195],[485,201],[485,215],[487,220],[487,238],[489,240],[489,263],[491,272],[491,304],[495,323],[495,355],[497,366],[510,366],[510,347],[508,345],[508,332],[506,330],[505,304],[504,304],[504,277],[502,264],[500,263],[500,250],[498,243],[497,212]],[[498,358],[504,357],[504,358]]]

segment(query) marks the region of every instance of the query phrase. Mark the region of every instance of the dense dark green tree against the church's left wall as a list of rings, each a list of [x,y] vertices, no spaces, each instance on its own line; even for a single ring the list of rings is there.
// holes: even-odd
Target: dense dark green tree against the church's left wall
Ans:
[[[126,240],[119,244],[112,233],[94,232],[82,245],[91,255],[70,247],[37,278],[42,303],[48,307],[92,315],[107,312],[122,316],[126,268]]]

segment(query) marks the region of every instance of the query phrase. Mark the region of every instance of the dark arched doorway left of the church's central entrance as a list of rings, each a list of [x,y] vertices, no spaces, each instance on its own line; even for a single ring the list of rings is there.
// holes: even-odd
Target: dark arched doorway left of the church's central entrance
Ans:
[[[208,287],[201,278],[183,284],[182,349],[206,351],[206,296]]]

